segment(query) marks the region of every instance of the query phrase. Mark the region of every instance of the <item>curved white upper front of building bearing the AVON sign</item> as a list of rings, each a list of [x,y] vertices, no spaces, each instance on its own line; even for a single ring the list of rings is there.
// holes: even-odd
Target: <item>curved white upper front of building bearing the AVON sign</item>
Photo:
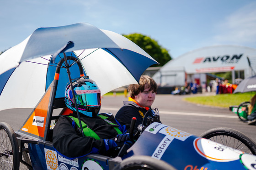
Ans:
[[[160,71],[177,67],[184,68],[188,74],[245,70],[249,68],[247,56],[255,53],[254,48],[238,45],[208,46],[169,61]]]

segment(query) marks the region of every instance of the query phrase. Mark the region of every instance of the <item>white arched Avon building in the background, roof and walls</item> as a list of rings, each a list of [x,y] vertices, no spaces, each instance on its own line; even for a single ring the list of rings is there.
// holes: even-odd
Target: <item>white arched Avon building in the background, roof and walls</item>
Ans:
[[[243,71],[245,78],[255,74],[250,67],[248,57],[256,55],[256,49],[238,45],[216,45],[203,47],[187,52],[166,63],[153,79],[162,86],[182,86],[187,82],[199,80],[206,84],[206,74],[216,72],[232,72],[235,81],[235,71]],[[255,67],[255,66],[254,66]]]

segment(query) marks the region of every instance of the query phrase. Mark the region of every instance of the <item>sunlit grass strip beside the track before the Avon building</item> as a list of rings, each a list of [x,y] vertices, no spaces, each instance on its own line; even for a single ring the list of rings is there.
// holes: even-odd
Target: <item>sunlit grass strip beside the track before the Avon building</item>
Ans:
[[[256,92],[238,93],[238,94],[219,94],[213,96],[187,97],[185,101],[218,107],[229,107],[230,105],[239,105],[244,101],[249,101]]]

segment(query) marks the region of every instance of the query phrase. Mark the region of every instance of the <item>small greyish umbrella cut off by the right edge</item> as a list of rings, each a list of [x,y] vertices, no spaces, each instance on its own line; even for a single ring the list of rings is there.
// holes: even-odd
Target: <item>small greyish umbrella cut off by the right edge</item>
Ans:
[[[249,91],[256,91],[256,75],[242,80],[236,87],[234,93],[245,93]]]

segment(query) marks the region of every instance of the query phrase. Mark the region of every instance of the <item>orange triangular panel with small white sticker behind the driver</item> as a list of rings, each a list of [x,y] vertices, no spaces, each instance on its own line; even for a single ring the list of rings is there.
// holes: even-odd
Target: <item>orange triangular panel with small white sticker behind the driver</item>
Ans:
[[[43,98],[40,100],[30,117],[27,119],[25,125],[21,128],[22,131],[44,137],[45,122],[50,95],[51,87],[48,88],[48,91],[44,94]]]

